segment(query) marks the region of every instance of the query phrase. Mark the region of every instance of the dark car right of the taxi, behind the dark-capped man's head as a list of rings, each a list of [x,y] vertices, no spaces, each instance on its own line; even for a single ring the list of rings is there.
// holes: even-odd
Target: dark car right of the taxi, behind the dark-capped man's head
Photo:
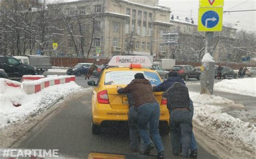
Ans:
[[[176,65],[173,66],[172,70],[177,71],[178,75],[185,80],[188,80],[189,78],[197,78],[200,80],[201,78],[201,72],[191,65]]]

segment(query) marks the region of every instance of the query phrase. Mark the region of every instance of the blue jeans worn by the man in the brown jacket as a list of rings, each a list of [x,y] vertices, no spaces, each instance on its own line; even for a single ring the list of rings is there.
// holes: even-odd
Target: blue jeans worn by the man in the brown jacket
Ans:
[[[147,146],[151,143],[151,136],[158,153],[164,150],[164,144],[158,129],[159,118],[160,106],[158,103],[146,103],[138,107],[138,128],[140,137]],[[147,124],[150,125],[150,134],[147,131]]]

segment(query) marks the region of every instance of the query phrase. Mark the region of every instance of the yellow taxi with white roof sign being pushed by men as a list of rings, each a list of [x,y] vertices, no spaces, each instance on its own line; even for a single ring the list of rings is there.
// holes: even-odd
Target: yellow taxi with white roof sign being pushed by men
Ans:
[[[95,81],[87,82],[88,85],[95,86],[92,92],[93,134],[99,134],[102,125],[113,123],[113,121],[128,120],[129,105],[127,97],[118,95],[117,86],[125,87],[134,79],[134,75],[137,73],[143,73],[152,86],[162,82],[155,70],[138,67],[150,66],[150,64],[149,59],[145,56],[114,56],[109,62],[109,67],[102,70],[97,83]],[[162,93],[154,92],[154,96],[160,104],[159,133],[164,135],[170,132],[170,115],[166,106],[167,100],[161,96]]]

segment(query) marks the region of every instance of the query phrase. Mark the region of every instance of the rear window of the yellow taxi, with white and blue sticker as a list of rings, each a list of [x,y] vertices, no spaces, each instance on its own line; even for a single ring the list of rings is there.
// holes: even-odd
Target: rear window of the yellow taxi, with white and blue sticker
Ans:
[[[159,76],[156,73],[148,71],[110,71],[105,75],[105,85],[127,85],[134,75],[137,73],[144,74],[145,78],[150,81],[152,85],[158,85],[161,83]]]

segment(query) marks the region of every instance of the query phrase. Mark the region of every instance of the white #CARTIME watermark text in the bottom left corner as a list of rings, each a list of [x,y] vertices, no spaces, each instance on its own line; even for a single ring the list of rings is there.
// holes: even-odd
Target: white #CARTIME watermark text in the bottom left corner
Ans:
[[[3,149],[3,157],[59,157],[58,149]]]

